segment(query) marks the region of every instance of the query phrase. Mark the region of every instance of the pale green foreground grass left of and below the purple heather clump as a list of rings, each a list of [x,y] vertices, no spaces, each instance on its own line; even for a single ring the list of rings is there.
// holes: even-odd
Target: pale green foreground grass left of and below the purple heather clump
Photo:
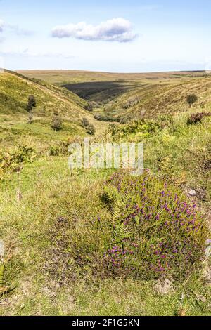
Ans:
[[[101,206],[96,203],[97,191],[104,178],[105,172],[96,178],[93,171],[71,177],[65,159],[56,157],[25,166],[21,201],[16,197],[17,175],[9,186],[3,185],[1,233],[7,255],[12,256],[6,263],[6,283],[15,289],[6,297],[1,314],[177,315],[182,308],[186,315],[209,315],[209,291],[198,275],[191,275],[165,294],[155,290],[154,281],[99,280],[89,271],[83,277],[68,278],[68,265],[64,269],[63,264],[66,259],[60,259],[63,246],[59,245],[60,239],[68,237],[65,233],[60,237],[63,225],[56,218],[77,218],[77,230],[83,230],[86,218]],[[58,243],[53,256],[52,239]]]

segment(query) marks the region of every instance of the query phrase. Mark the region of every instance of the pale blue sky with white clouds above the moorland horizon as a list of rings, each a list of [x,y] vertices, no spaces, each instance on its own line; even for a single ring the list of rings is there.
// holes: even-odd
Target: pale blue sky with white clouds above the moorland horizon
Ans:
[[[211,70],[210,0],[0,0],[8,70]]]

